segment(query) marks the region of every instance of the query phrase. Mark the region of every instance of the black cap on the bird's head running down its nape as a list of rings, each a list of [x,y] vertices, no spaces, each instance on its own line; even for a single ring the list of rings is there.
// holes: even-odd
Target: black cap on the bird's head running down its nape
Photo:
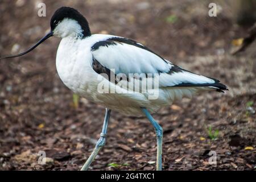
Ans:
[[[76,20],[84,31],[84,37],[91,35],[87,20],[79,13],[79,11],[73,9],[72,7],[60,7],[55,11],[51,18],[51,30],[53,31],[57,24],[65,18]]]

